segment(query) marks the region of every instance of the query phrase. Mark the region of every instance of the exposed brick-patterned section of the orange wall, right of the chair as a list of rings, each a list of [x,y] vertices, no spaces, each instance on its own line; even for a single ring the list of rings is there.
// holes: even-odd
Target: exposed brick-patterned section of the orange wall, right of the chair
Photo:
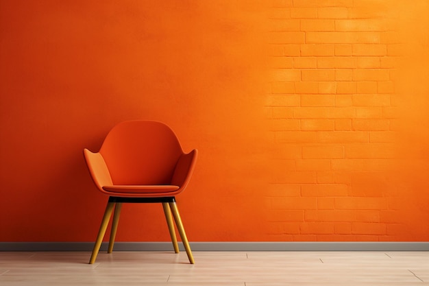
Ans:
[[[266,204],[273,240],[397,236],[391,165],[400,37],[389,6],[367,2],[271,2],[266,108],[277,167]]]

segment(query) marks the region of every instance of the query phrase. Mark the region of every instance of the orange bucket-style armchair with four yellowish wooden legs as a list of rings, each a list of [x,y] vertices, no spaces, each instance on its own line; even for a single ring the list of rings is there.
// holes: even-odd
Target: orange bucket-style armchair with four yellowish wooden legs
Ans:
[[[184,153],[174,132],[156,121],[125,121],[114,126],[97,153],[84,150],[86,165],[98,189],[109,195],[90,264],[95,262],[113,213],[108,253],[113,250],[124,202],[160,202],[175,253],[179,252],[173,219],[191,264],[191,247],[175,203],[175,195],[188,185],[197,150]]]

